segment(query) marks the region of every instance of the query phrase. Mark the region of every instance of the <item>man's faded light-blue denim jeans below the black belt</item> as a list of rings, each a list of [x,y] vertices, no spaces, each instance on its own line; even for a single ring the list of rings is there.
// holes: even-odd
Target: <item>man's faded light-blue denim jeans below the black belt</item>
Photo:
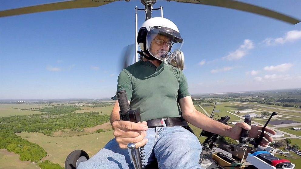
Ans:
[[[201,168],[198,164],[202,146],[198,138],[181,126],[156,127],[147,130],[148,141],[145,145],[145,162],[158,161],[160,169]],[[127,149],[121,149],[113,138],[98,153],[78,169],[134,169]]]

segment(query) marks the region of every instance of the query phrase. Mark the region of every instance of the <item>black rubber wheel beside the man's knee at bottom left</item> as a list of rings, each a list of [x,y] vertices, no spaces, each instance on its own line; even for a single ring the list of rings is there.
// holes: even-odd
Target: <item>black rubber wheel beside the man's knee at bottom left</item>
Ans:
[[[83,150],[74,150],[66,158],[65,169],[76,169],[78,164],[89,160],[89,155]]]

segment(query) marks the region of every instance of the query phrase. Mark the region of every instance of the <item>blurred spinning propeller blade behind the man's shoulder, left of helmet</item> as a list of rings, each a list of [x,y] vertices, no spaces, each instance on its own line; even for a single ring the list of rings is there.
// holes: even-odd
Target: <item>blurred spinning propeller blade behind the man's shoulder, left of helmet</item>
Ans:
[[[127,45],[120,55],[120,71],[135,63],[135,44]]]

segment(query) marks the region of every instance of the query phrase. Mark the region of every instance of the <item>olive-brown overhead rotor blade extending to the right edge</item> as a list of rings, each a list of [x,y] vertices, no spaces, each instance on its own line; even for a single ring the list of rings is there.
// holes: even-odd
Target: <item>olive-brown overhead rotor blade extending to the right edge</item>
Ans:
[[[244,2],[238,2],[234,0],[171,0],[176,2],[186,2],[186,3],[195,3],[195,4],[203,4],[203,5],[212,5],[219,6],[224,8],[237,9],[245,12],[251,12],[259,15],[264,15],[270,18],[278,19],[284,22],[288,22],[290,24],[297,24],[301,22],[299,19],[292,18],[290,16],[262,8],[259,6],[247,4]]]

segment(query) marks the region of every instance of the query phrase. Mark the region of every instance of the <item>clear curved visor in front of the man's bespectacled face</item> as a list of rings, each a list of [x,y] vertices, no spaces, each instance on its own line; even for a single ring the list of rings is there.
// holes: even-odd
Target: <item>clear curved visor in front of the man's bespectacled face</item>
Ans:
[[[152,56],[161,61],[171,61],[180,51],[184,40],[180,34],[174,33],[166,28],[151,28],[146,36],[146,46]]]

